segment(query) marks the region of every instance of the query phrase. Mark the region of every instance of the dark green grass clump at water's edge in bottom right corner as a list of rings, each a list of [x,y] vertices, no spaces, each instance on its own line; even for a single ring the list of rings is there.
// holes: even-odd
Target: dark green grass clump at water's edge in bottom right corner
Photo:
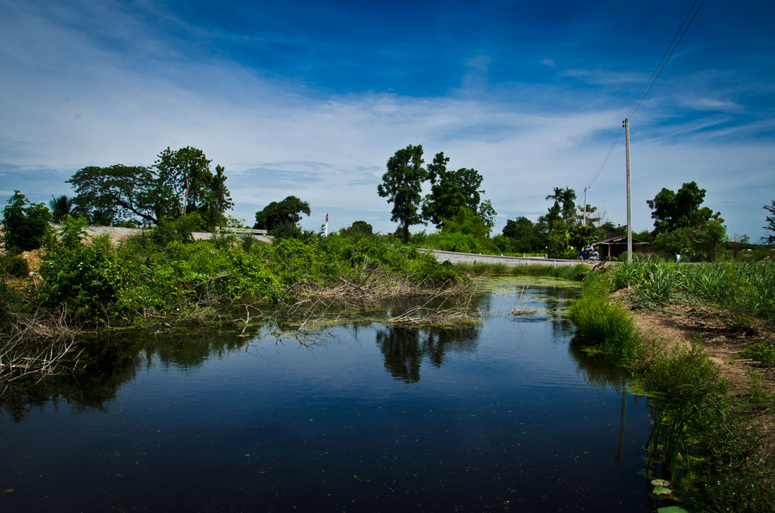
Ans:
[[[653,409],[650,474],[678,481],[700,511],[772,511],[773,457],[742,416],[749,404],[729,396],[699,340],[656,354],[636,379]]]

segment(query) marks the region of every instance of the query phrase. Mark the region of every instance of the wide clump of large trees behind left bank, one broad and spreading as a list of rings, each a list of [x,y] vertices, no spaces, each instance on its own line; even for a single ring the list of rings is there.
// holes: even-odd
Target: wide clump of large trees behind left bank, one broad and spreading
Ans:
[[[77,214],[90,221],[118,224],[140,217],[145,224],[164,218],[179,219],[196,212],[204,228],[212,229],[233,203],[223,167],[213,175],[210,160],[200,149],[186,146],[160,152],[152,168],[143,166],[88,166],[75,173],[72,183]]]

